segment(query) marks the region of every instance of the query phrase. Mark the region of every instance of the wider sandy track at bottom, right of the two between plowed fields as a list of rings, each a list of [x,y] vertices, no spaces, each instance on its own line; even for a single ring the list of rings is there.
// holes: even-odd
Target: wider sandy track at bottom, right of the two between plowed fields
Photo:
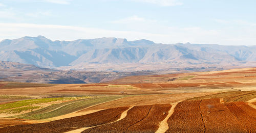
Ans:
[[[169,125],[167,123],[167,120],[170,118],[170,116],[173,115],[174,113],[174,109],[176,107],[176,105],[181,102],[183,100],[180,100],[180,101],[177,101],[177,102],[174,102],[174,103],[170,103],[172,105],[172,107],[170,108],[170,110],[168,111],[168,115],[159,123],[159,127],[156,131],[156,133],[161,133],[161,132],[165,132],[168,130],[169,128]]]

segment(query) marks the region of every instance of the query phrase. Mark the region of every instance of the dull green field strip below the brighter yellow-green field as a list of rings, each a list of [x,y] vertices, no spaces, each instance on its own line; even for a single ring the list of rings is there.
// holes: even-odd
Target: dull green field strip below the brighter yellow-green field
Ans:
[[[33,111],[27,114],[14,116],[14,117],[31,119],[31,120],[47,119],[47,118],[52,118],[60,115],[69,114],[69,113],[90,107],[95,104],[99,104],[105,101],[115,100],[121,97],[123,96],[95,97],[95,98],[88,98],[88,99],[80,99],[73,102],[53,104],[49,107],[42,108],[37,111]]]

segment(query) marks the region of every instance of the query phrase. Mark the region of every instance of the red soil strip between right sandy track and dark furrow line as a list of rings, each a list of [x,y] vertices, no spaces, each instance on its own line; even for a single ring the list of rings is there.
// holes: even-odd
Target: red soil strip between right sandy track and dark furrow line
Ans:
[[[173,115],[167,120],[169,128],[166,132],[204,132],[200,102],[201,100],[179,102]]]

